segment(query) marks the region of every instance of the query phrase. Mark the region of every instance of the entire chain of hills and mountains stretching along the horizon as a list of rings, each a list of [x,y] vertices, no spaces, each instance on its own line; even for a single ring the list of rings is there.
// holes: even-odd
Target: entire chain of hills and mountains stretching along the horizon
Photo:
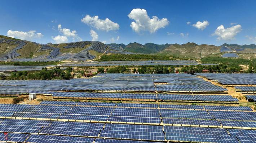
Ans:
[[[196,43],[154,44],[140,43],[103,44],[83,41],[61,44],[39,44],[0,35],[0,61],[87,61],[98,59],[104,54],[159,54],[181,58],[200,59],[221,57],[224,53],[236,53],[240,58],[256,57],[256,45],[223,44],[214,46]],[[228,54],[230,55],[230,54]],[[223,57],[226,57],[223,56]]]

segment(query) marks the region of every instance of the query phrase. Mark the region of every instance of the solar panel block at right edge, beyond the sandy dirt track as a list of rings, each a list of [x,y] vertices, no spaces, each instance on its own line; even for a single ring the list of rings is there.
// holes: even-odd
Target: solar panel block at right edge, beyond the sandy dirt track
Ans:
[[[195,73],[195,75],[217,81],[222,85],[256,85],[256,73]]]

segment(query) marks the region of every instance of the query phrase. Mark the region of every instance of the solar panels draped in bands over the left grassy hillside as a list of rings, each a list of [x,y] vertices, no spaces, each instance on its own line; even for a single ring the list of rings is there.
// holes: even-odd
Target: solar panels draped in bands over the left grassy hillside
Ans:
[[[94,56],[90,51],[96,51],[98,53],[117,53],[117,54],[134,54],[131,52],[126,52],[121,49],[109,48],[106,44],[101,42],[75,42],[75,43],[66,43],[66,46],[63,48],[85,48],[79,53],[61,53],[60,48],[58,48],[59,44],[38,44],[34,43],[36,46],[41,46],[38,52],[48,51],[49,54],[44,54],[41,56],[33,57],[33,58],[17,58],[20,54],[17,52],[18,49],[23,48],[26,45],[25,40],[10,40],[0,38],[0,43],[8,43],[12,45],[17,45],[16,48],[11,51],[0,56],[0,61],[60,61],[60,60],[73,60],[73,61],[87,61],[89,59],[94,59]],[[89,45],[89,47],[85,47]]]

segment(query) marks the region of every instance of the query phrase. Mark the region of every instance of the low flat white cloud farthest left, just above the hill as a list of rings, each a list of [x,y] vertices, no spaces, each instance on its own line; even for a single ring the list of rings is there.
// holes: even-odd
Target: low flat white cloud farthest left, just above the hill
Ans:
[[[22,39],[22,40],[32,40],[34,38],[40,39],[44,35],[42,33],[36,33],[35,30],[30,30],[28,32],[8,30],[7,36],[12,38]]]

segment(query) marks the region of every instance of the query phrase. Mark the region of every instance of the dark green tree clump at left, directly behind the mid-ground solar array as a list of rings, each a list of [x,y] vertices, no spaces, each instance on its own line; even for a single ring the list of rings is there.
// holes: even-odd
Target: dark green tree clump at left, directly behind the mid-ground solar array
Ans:
[[[40,72],[35,73],[28,73],[27,71],[12,72],[11,76],[8,76],[6,80],[69,80],[70,78],[71,73],[69,71],[63,71],[59,67],[56,67],[53,70],[42,68]]]

